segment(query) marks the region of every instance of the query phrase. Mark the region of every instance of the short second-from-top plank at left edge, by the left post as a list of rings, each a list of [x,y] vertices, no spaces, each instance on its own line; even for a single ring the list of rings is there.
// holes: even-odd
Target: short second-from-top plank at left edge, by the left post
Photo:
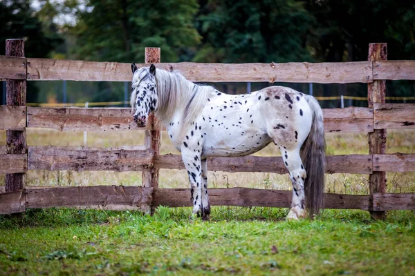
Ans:
[[[0,106],[0,130],[24,130],[26,106]]]

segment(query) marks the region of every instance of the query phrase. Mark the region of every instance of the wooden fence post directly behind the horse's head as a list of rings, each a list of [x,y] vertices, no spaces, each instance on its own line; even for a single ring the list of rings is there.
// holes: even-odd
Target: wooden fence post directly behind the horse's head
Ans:
[[[145,63],[160,63],[160,48],[145,48]],[[145,146],[154,150],[154,157],[160,154],[160,121],[156,119],[154,113],[149,117],[151,130],[145,130]],[[158,168],[152,167],[150,170],[142,172],[142,186],[158,188]],[[150,206],[150,213],[154,213],[154,206]]]

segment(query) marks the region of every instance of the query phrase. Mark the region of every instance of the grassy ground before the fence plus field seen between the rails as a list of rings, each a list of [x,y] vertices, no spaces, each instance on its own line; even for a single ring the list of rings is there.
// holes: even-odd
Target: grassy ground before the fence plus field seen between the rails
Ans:
[[[89,133],[88,146],[142,144],[142,132]],[[6,141],[0,132],[0,141]],[[82,145],[83,132],[28,129],[30,145]],[[367,154],[365,134],[327,134],[329,155]],[[415,130],[390,131],[387,152],[415,152]],[[174,152],[163,137],[162,153]],[[269,146],[257,155],[278,155]],[[291,189],[286,175],[210,172],[210,187]],[[140,172],[28,172],[35,186],[140,185]],[[0,186],[4,176],[0,176]],[[326,191],[367,195],[367,175],[326,175]],[[415,173],[387,173],[389,193],[414,193]],[[185,170],[162,170],[160,186],[187,187]],[[0,187],[1,188],[1,187]],[[28,210],[0,216],[0,275],[415,275],[415,212],[371,221],[360,210],[324,210],[286,221],[285,208],[190,208],[154,217],[105,210]]]

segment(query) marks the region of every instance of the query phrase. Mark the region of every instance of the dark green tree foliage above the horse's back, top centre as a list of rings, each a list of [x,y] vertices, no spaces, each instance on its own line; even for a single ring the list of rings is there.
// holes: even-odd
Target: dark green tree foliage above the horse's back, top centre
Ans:
[[[208,1],[196,26],[206,62],[311,61],[306,48],[314,19],[302,1]]]

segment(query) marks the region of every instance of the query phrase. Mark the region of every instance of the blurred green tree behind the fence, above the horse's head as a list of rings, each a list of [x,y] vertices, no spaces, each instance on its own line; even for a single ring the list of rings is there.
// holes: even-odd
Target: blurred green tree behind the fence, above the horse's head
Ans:
[[[197,10],[196,1],[90,0],[71,29],[76,53],[95,61],[142,62],[145,47],[160,47],[163,61],[184,59],[200,41],[192,24]]]

